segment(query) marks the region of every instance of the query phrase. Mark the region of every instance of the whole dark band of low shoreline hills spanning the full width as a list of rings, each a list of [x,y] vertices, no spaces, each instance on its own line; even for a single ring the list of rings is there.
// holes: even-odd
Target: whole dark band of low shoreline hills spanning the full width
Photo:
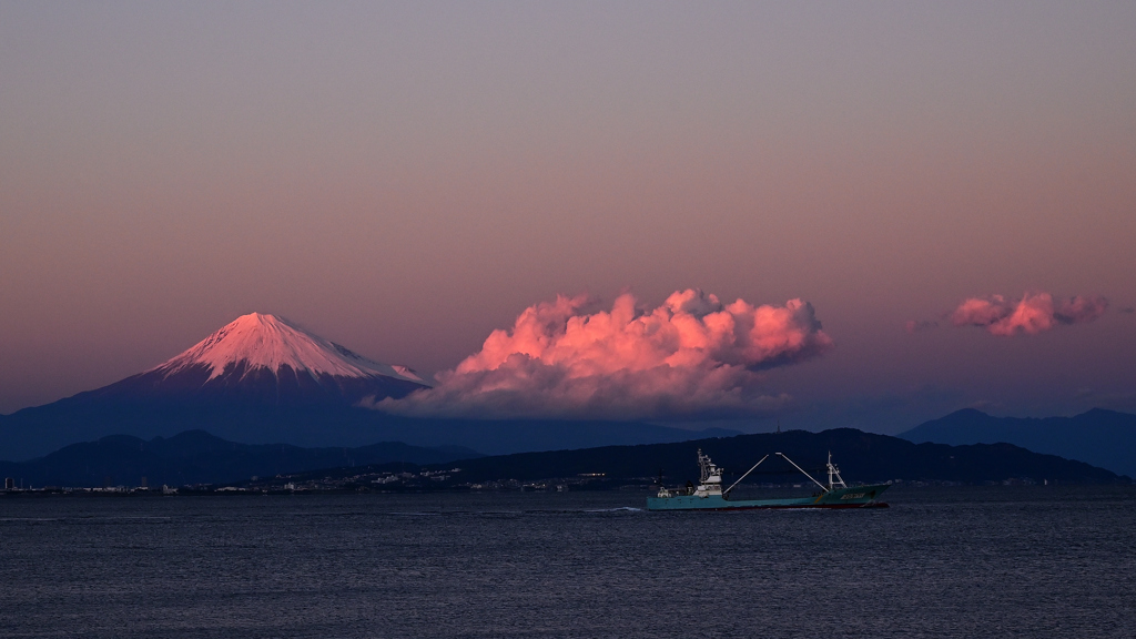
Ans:
[[[0,462],[0,475],[36,486],[99,487],[239,483],[281,489],[291,481],[311,481],[336,490],[371,490],[368,475],[410,475],[409,486],[421,489],[421,471],[436,479],[429,489],[469,488],[473,482],[535,481],[569,478],[605,488],[620,482],[648,486],[665,470],[670,483],[696,479],[695,450],[713,457],[729,476],[741,476],[755,459],[780,451],[805,470],[821,472],[828,453],[835,453],[846,481],[949,481],[989,483],[1005,480],[1044,483],[1130,483],[1105,468],[1055,455],[1033,453],[1010,443],[950,446],[833,429],[812,433],[737,434],[685,442],[604,446],[576,450],[484,456],[459,447],[424,448],[402,442],[365,447],[300,448],[284,443],[242,445],[204,431],[172,438],[142,440],[109,435],[74,443],[31,462]],[[460,463],[459,463],[460,462]],[[778,466],[778,464],[780,464]],[[460,471],[452,471],[460,466]],[[444,480],[437,475],[445,474]],[[256,475],[258,479],[252,479]],[[762,476],[765,475],[765,476]],[[580,478],[585,478],[580,480]],[[592,479],[587,479],[592,478]],[[751,475],[751,482],[808,483],[796,468],[771,458]],[[336,480],[348,480],[348,484]],[[598,482],[593,482],[598,479]],[[383,481],[383,490],[399,489]],[[416,487],[417,484],[417,487]]]

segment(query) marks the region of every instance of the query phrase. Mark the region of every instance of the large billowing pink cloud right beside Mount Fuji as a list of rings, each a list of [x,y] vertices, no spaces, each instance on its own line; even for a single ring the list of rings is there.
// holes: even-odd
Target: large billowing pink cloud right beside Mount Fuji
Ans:
[[[786,395],[765,395],[760,371],[817,357],[833,347],[812,306],[721,304],[690,289],[658,308],[634,296],[599,310],[587,297],[526,308],[509,330],[438,385],[381,410],[414,416],[611,420],[722,418],[776,412]]]

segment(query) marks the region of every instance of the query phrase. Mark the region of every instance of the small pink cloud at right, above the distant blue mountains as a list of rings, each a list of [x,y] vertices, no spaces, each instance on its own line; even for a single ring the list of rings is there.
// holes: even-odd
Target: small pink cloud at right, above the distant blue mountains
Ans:
[[[1046,292],[1026,293],[1017,301],[995,294],[964,300],[950,318],[955,326],[982,326],[993,335],[1035,335],[1058,324],[1092,322],[1108,307],[1109,300],[1100,296],[1076,296],[1054,302],[1053,296]]]

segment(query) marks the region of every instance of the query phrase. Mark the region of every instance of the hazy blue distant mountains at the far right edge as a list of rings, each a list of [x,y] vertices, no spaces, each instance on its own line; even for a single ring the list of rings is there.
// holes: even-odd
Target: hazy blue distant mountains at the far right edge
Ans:
[[[900,437],[917,443],[1004,441],[1136,478],[1136,415],[1101,408],[1075,417],[1044,418],[994,417],[967,408],[920,424]]]

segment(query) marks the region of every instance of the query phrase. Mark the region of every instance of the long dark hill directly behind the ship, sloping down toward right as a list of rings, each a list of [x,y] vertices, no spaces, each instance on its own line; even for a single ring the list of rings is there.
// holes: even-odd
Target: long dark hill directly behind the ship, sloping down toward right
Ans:
[[[730,438],[702,439],[680,443],[644,446],[609,446],[586,450],[523,453],[465,459],[461,472],[452,474],[451,483],[485,482],[513,479],[535,481],[552,478],[576,478],[602,473],[609,480],[653,478],[660,470],[668,484],[698,481],[695,451],[702,449],[729,476],[740,476],[763,455],[784,453],[807,471],[820,478],[828,453],[833,453],[844,480],[850,483],[907,481],[951,481],[964,483],[1001,482],[1008,479],[1033,479],[1060,483],[1110,483],[1128,481],[1111,471],[1084,462],[1053,455],[1031,453],[1010,443],[946,446],[912,443],[896,437],[866,433],[854,429],[836,429],[812,433],[744,434]],[[428,470],[445,470],[450,465],[432,465]],[[371,467],[370,472],[382,468]],[[320,471],[310,476],[351,476],[367,468]],[[802,482],[797,471],[770,455],[759,470],[746,479],[750,483]]]

